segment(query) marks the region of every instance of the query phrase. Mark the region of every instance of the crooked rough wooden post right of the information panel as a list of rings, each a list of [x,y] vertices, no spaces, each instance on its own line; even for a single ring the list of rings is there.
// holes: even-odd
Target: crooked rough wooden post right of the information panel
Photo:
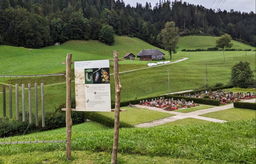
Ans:
[[[116,89],[116,101],[115,101],[115,121],[114,121],[114,142],[112,150],[112,160],[111,163],[116,164],[117,160],[117,150],[118,150],[118,140],[119,140],[119,113],[120,113],[120,94],[121,94],[121,84],[119,81],[118,74],[118,52],[114,51],[114,80]]]

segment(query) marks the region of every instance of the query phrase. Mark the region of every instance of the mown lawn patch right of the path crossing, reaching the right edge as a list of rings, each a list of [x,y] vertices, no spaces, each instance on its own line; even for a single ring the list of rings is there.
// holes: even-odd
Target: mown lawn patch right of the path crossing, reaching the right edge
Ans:
[[[206,113],[200,116],[216,118],[226,121],[248,120],[256,118],[256,111],[252,109],[230,108],[217,112]]]

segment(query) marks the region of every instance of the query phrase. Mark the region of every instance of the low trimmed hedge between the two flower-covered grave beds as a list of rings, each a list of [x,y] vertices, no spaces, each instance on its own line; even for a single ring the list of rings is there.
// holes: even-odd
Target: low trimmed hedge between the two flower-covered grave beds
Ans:
[[[185,99],[186,101],[194,101],[195,103],[200,104],[208,104],[208,105],[219,105],[220,101],[216,99],[206,99],[206,98],[194,98],[194,97],[184,97],[184,96],[176,96],[176,95],[166,95],[166,98],[176,99]]]

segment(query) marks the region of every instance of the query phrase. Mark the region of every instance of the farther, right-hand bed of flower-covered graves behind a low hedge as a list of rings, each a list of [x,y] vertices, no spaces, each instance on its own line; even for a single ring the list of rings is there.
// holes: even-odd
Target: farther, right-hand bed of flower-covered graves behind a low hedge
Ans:
[[[181,95],[180,95],[181,96]],[[195,97],[195,98],[207,98],[207,99],[217,99],[222,105],[229,104],[232,102],[240,101],[241,99],[252,99],[255,98],[255,93],[233,93],[231,91],[217,90],[217,91],[201,91],[194,95],[184,94],[184,97]]]

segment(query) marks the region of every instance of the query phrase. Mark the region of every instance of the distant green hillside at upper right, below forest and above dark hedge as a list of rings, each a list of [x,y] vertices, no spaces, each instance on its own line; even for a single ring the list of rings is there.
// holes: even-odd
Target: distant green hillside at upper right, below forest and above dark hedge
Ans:
[[[180,38],[180,42],[178,43],[178,51],[181,51],[182,49],[207,49],[210,47],[215,47],[216,40],[220,38],[217,36],[183,36]],[[231,43],[233,43],[233,46],[231,48],[233,49],[251,49],[255,50],[255,47],[249,46],[247,44],[237,42],[235,40],[231,40]]]

